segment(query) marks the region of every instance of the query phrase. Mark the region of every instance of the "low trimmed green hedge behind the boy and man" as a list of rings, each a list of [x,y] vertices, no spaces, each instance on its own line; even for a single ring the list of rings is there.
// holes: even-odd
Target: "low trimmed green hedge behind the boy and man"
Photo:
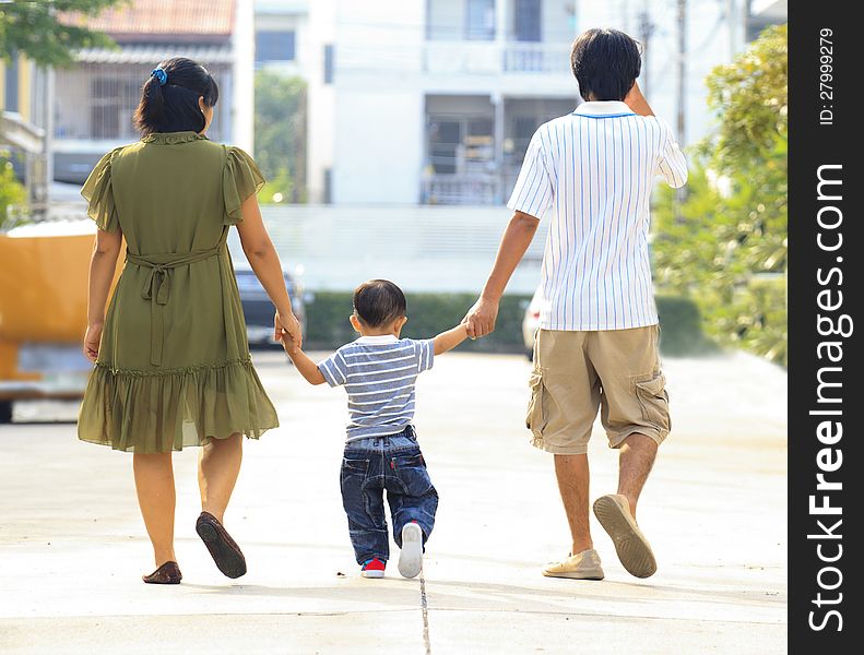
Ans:
[[[310,349],[332,349],[356,338],[348,323],[351,291],[316,291],[306,306]],[[404,336],[429,338],[457,325],[476,300],[474,294],[409,294],[409,322]],[[531,298],[507,295],[501,300],[495,332],[466,341],[459,349],[483,353],[522,353],[522,319]],[[666,355],[696,355],[715,350],[702,334],[701,317],[693,300],[660,296],[656,299],[663,329],[661,347]]]

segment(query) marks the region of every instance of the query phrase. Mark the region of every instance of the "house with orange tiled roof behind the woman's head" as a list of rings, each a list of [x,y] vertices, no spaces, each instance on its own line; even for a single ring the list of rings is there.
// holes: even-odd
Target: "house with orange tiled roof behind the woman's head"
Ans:
[[[194,59],[216,79],[210,138],[253,150],[251,0],[133,0],[86,22],[119,47],[81,50],[75,67],[54,73],[54,179],[80,183],[103,154],[138,140],[131,116],[141,86],[168,57]]]

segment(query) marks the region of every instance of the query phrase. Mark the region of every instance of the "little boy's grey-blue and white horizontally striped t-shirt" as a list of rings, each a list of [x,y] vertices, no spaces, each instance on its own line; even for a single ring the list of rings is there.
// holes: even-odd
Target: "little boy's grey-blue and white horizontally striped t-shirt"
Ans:
[[[348,394],[347,441],[397,434],[414,419],[414,382],[433,367],[433,340],[362,336],[318,365]]]

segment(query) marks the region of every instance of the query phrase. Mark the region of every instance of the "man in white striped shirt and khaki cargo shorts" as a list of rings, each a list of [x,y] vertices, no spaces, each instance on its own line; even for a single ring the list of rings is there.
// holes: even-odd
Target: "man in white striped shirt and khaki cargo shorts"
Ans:
[[[571,67],[587,102],[534,133],[507,205],[513,216],[465,324],[472,337],[494,330],[507,282],[548,215],[526,424],[533,444],[555,455],[572,544],[543,573],[604,575],[589,531],[585,454],[600,409],[609,446],[620,451],[620,476],[618,492],[597,499],[594,513],[625,569],[648,577],[656,563],[636,523],[636,504],[671,427],[648,254],[649,202],[656,176],[682,187],[687,165],[636,84],[641,61],[632,38],[591,29],[575,41]]]

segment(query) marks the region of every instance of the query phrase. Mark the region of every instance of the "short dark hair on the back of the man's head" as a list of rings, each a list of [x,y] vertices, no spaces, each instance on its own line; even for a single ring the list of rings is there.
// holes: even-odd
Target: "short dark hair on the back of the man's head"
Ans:
[[[617,29],[589,29],[570,52],[570,69],[585,100],[623,100],[641,68],[639,44]]]

